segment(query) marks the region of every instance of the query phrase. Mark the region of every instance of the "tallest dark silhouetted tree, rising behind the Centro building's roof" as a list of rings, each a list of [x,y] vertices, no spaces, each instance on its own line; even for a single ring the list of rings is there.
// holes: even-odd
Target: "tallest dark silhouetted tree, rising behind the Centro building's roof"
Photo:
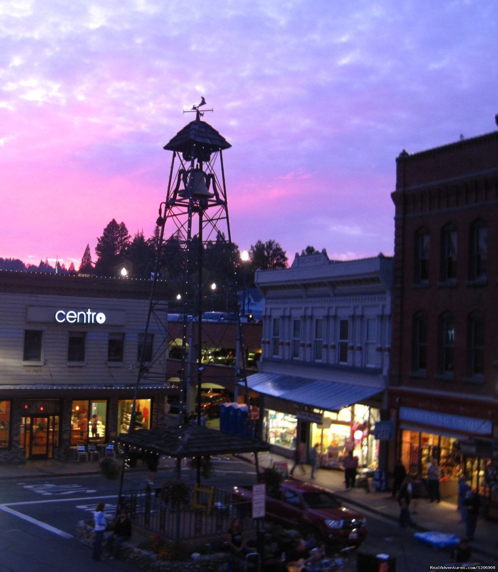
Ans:
[[[98,276],[117,276],[119,267],[126,262],[126,251],[130,246],[130,234],[125,223],[111,220],[101,237],[97,238],[95,273]]]

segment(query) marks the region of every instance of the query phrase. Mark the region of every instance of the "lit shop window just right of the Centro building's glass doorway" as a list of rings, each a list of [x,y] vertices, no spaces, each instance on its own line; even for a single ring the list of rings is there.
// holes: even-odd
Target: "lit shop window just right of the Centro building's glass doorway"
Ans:
[[[71,445],[105,443],[107,402],[73,401],[71,406]]]

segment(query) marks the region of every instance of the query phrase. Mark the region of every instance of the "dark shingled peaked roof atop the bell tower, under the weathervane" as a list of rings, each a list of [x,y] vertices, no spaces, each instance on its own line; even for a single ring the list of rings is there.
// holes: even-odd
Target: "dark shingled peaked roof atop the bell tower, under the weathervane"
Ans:
[[[166,143],[164,149],[182,153],[184,158],[189,160],[200,156],[205,158],[206,155],[209,156],[211,153],[228,149],[231,146],[209,123],[196,119],[185,125],[169,143]],[[193,148],[196,148],[197,152],[193,153]],[[199,153],[200,150],[201,153]]]

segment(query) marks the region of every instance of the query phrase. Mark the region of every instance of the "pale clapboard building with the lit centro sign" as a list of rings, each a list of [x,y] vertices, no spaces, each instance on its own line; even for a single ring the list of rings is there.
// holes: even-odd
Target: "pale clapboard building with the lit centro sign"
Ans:
[[[128,430],[142,347],[147,362],[162,342],[156,324],[144,337],[149,297],[145,280],[0,272],[0,462],[67,459]],[[174,394],[145,375],[137,426],[162,423]]]

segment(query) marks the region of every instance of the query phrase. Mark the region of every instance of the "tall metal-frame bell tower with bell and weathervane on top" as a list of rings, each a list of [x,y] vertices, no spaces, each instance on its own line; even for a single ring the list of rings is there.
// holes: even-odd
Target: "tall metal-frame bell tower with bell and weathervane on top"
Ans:
[[[223,157],[231,145],[202,120],[204,105],[203,97],[184,112],[195,113],[195,119],[164,146],[172,155],[166,200],[156,221],[156,269],[144,340],[151,320],[160,323],[164,339],[160,349],[155,344],[152,360],[145,362],[142,352],[136,390],[146,380],[178,384],[180,424],[192,410],[201,422],[202,384],[216,383],[206,348],[221,347],[220,330],[228,322],[236,349],[232,387],[246,375]],[[224,283],[217,282],[220,276]],[[211,316],[221,316],[225,324],[213,328],[213,320],[206,320]]]

